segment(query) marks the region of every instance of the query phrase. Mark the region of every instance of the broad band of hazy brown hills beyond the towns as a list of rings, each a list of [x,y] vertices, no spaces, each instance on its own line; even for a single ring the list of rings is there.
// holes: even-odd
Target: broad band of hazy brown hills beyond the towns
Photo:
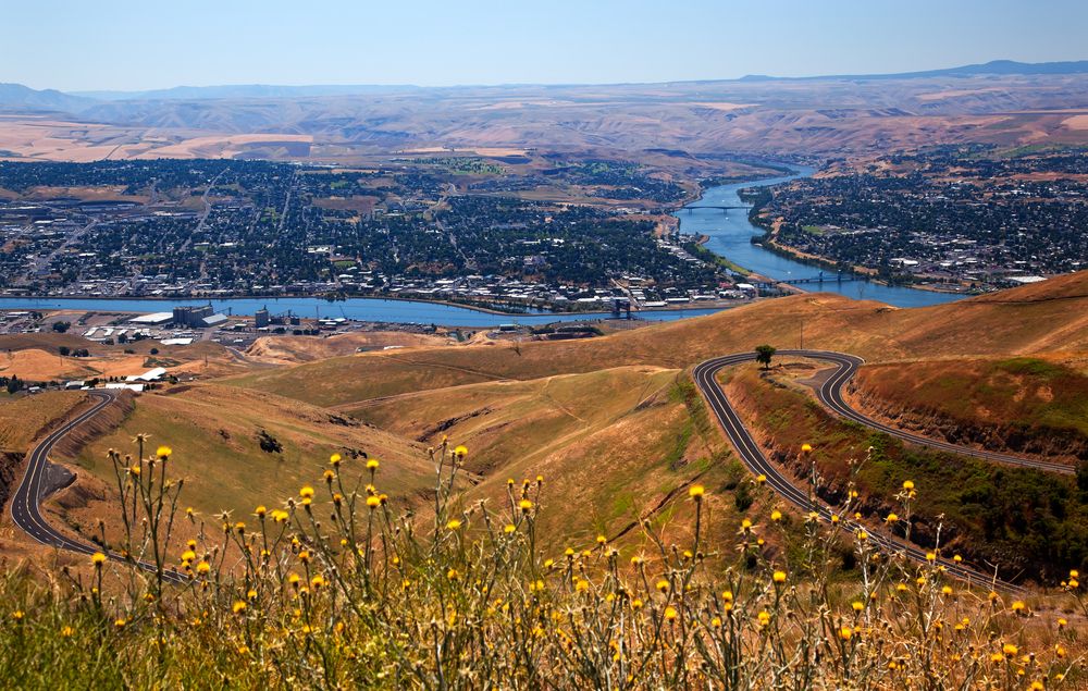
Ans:
[[[1084,73],[929,73],[294,97],[236,90],[92,102],[48,122],[11,115],[0,149],[29,160],[349,162],[426,146],[842,156],[967,141],[1077,145],[1088,141],[1075,120],[1088,113],[1086,83]]]

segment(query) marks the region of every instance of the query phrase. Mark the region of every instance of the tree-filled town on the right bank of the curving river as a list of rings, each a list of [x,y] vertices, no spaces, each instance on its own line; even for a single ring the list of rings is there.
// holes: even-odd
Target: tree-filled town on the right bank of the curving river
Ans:
[[[1088,266],[1088,152],[936,147],[801,180],[772,246],[893,283],[992,289]]]

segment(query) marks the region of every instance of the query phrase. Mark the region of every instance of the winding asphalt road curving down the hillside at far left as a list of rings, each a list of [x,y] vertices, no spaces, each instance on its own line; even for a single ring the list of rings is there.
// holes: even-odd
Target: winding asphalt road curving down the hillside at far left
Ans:
[[[23,476],[23,481],[20,482],[18,489],[15,490],[15,494],[11,498],[11,518],[26,534],[44,545],[88,555],[96,552],[103,552],[114,562],[135,564],[147,571],[154,572],[154,564],[149,562],[134,563],[120,554],[106,552],[96,545],[73,540],[52,528],[41,516],[40,502],[45,493],[42,482],[45,480],[46,466],[49,462],[49,452],[52,451],[57,442],[61,441],[65,434],[94,418],[99,411],[113,403],[118,396],[112,391],[92,391],[89,392],[89,395],[95,399],[94,406],[59,427],[27,454],[26,474]],[[173,582],[184,582],[187,580],[182,573],[169,569],[165,571],[165,578]]]

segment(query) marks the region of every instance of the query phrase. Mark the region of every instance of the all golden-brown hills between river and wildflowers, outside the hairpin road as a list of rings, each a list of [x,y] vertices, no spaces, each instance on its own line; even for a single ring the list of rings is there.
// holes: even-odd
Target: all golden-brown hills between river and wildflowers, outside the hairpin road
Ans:
[[[70,460],[81,479],[53,510],[70,523],[97,520],[110,496],[104,452],[127,449],[140,432],[175,448],[176,468],[189,478],[186,501],[205,515],[281,502],[320,483],[327,455],[349,448],[379,455],[381,489],[415,504],[430,483],[425,446],[448,435],[471,449],[465,502],[506,501],[507,479],[542,474],[555,507],[542,526],[547,534],[590,542],[630,532],[621,544],[635,548],[633,522],[671,530],[683,510],[673,499],[697,481],[714,489],[710,530],[725,536],[747,510],[737,495],[745,472],[687,368],[761,343],[794,347],[802,323],[806,347],[873,363],[1054,350],[1062,354],[1048,357],[1072,361],[1088,351],[1086,295],[1081,272],[920,309],[812,294],[585,341],[419,345],[285,367],[237,361],[244,374],[136,398],[113,432]],[[24,341],[32,350],[45,345]],[[325,351],[294,344],[283,353],[296,350]],[[169,355],[181,360],[183,351]],[[283,454],[260,449],[262,430]]]

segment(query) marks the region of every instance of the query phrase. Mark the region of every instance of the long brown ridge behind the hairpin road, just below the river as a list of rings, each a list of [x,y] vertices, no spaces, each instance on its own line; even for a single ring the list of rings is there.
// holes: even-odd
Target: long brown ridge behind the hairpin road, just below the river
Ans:
[[[226,380],[336,406],[379,396],[536,379],[626,365],[682,369],[761,343],[844,350],[868,361],[1088,349],[1088,271],[1042,284],[918,309],[837,295],[798,295],[588,341],[482,345],[331,358]]]

